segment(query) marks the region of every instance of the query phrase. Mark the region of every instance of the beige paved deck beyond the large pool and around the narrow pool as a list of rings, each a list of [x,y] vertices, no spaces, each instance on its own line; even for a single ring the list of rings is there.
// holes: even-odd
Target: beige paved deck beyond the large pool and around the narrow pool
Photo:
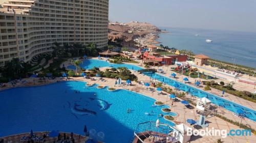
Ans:
[[[68,65],[69,63],[66,63],[66,64]],[[127,64],[131,64],[131,63],[127,63]],[[140,64],[133,64],[133,65],[140,66]],[[168,69],[169,67],[163,67],[162,69],[164,69],[164,68],[166,68],[166,70],[164,70],[166,72],[166,74],[163,74],[163,75],[168,77],[168,75],[170,75],[172,73],[172,71],[170,71],[170,69]],[[106,69],[106,68],[100,68],[100,70],[104,70],[104,69]],[[135,74],[139,78],[140,81],[141,80],[143,80],[143,81],[152,80],[152,79],[150,79],[150,77],[148,77],[146,75],[143,75],[143,74],[139,74],[138,72],[132,71],[132,73]],[[183,82],[183,78],[185,76],[177,74],[177,77],[178,78],[175,79],[175,80]],[[148,97],[152,97],[152,98],[154,98],[158,101],[162,101],[166,105],[169,105],[171,107],[172,112],[178,113],[178,116],[175,117],[175,121],[174,121],[176,124],[184,123],[184,124],[190,126],[189,124],[186,123],[186,119],[199,120],[199,118],[200,118],[199,115],[196,113],[196,108],[194,108],[194,109],[184,108],[184,105],[181,104],[180,102],[174,102],[174,106],[172,106],[171,105],[172,103],[169,100],[169,97],[168,97],[167,93],[165,93],[165,95],[158,95],[157,92],[149,92],[148,90],[145,89],[145,87],[143,85],[140,85],[140,84],[138,84],[137,82],[134,82],[134,81],[132,81],[132,84],[133,84],[132,86],[127,86],[127,85],[124,85],[124,86],[116,85],[115,86],[114,85],[115,79],[104,78],[106,81],[100,81],[100,80],[98,80],[98,77],[95,77],[95,78],[97,79],[95,81],[92,81],[90,79],[84,79],[83,77],[76,77],[76,78],[72,77],[70,80],[85,81],[89,84],[98,84],[98,85],[101,85],[103,87],[108,86],[108,87],[112,87],[112,88],[115,88],[115,89],[126,89],[126,90],[129,90],[129,91],[133,91],[133,92],[143,94],[143,95],[148,96]],[[188,77],[188,79],[192,82],[189,85],[193,87],[195,78]],[[55,78],[53,80],[49,80],[47,78],[45,81],[42,80],[41,82],[38,82],[38,79],[35,79],[35,82],[34,82],[33,78],[27,78],[27,79],[24,79],[24,80],[28,81],[28,83],[22,84],[22,83],[19,82],[19,83],[17,83],[17,85],[15,87],[44,85],[44,84],[54,83],[54,82],[57,82],[57,81],[65,81],[66,79]],[[167,84],[165,86],[174,89],[173,87],[171,87]],[[5,88],[0,88],[0,90],[10,89],[10,88],[13,88],[13,87],[7,85]],[[203,88],[200,88],[200,89],[203,89]],[[222,92],[220,92],[216,89],[212,89],[210,91],[210,93],[218,94],[218,93],[222,93]],[[236,103],[239,103],[239,104],[244,105],[248,108],[252,108],[254,110],[256,108],[256,103],[244,100],[242,98],[239,98],[239,97],[227,94],[227,93],[225,93],[223,98],[225,98],[227,100],[230,100],[230,101],[233,101],[233,102],[236,102]],[[233,113],[231,111],[228,111],[224,108],[219,107],[218,112],[221,113],[223,116],[231,119],[231,120],[238,121],[238,122],[241,121],[240,118],[237,118],[237,117],[233,116]],[[209,123],[209,127],[208,127],[209,129],[211,129],[212,127],[214,127],[215,129],[226,129],[228,131],[231,130],[231,129],[235,129],[235,130],[236,129],[241,129],[238,126],[230,124],[230,123],[228,123],[228,122],[226,122],[226,121],[224,121],[220,118],[217,118],[217,117],[207,118],[206,121]],[[256,127],[256,122],[251,121],[249,119],[243,119],[242,123],[247,124],[247,125],[251,126],[252,128]],[[210,143],[210,142],[217,142],[218,138],[221,138],[221,137],[220,136],[204,136],[204,137],[195,137],[194,136],[194,137],[191,138],[190,142],[205,142],[205,143],[209,142]],[[256,142],[256,136],[252,133],[251,136],[232,136],[232,137],[222,138],[222,141],[224,141],[224,142]]]

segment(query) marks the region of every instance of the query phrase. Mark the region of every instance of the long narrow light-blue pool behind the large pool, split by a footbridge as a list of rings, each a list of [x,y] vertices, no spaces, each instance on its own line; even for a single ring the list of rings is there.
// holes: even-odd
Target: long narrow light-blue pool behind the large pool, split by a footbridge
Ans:
[[[130,64],[111,64],[111,63],[105,62],[103,60],[86,60],[81,65],[82,68],[84,67],[86,69],[91,69],[95,66],[96,67],[110,67],[110,66],[113,66],[115,68],[117,68],[117,67],[127,67],[129,69],[134,69],[134,70],[143,69],[141,67],[130,65]],[[73,69],[75,69],[75,67],[73,67]],[[178,88],[180,90],[188,91],[188,89],[190,89],[190,92],[189,92],[190,94],[193,94],[193,95],[195,95],[199,98],[206,97],[212,103],[214,103],[214,104],[216,104],[220,107],[223,107],[223,108],[225,108],[229,111],[232,111],[234,113],[237,113],[238,109],[242,109],[244,111],[244,115],[245,115],[246,118],[248,118],[252,121],[256,121],[256,111],[253,110],[253,109],[250,109],[250,108],[242,106],[240,104],[231,102],[231,101],[226,100],[224,98],[221,98],[217,95],[207,93],[207,92],[202,91],[200,89],[191,87],[190,85],[184,84],[182,82],[176,81],[174,79],[165,77],[165,76],[157,74],[157,73],[144,73],[144,74],[147,75],[147,76],[151,76],[154,79],[163,81],[164,83],[166,83],[168,85],[171,85],[173,87],[174,87],[174,84],[177,83],[179,85]]]

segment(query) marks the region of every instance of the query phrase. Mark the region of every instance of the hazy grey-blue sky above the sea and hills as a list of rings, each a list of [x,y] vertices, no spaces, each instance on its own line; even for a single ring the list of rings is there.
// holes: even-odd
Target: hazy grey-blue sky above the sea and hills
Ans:
[[[256,32],[256,0],[109,0],[109,20]]]

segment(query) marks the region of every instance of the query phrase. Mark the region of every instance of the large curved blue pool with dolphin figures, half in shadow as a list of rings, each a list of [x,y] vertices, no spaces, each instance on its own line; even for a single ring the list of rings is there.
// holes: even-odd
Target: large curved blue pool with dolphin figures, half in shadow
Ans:
[[[127,90],[111,92],[96,87],[86,87],[81,81],[63,81],[0,91],[0,136],[31,129],[83,134],[87,125],[88,130],[103,132],[104,142],[131,142],[137,124],[156,121],[159,113],[176,115],[162,112],[166,105],[152,106],[153,98]],[[127,113],[129,108],[132,110]],[[175,125],[163,118],[160,122]]]

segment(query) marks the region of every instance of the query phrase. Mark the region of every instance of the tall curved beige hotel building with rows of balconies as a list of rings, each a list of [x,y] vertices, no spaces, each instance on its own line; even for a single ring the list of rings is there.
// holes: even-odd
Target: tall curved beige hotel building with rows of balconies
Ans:
[[[1,0],[0,66],[61,45],[108,44],[109,0]]]

